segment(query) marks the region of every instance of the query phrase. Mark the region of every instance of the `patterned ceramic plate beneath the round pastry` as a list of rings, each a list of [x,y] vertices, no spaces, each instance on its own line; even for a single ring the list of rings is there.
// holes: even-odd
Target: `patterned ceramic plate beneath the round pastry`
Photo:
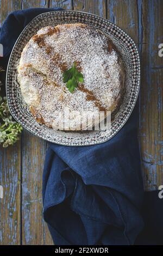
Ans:
[[[17,82],[17,65],[21,52],[29,39],[46,26],[57,26],[64,23],[86,23],[108,35],[122,54],[126,67],[126,93],[119,111],[111,123],[111,129],[88,132],[55,131],[36,122],[24,103]],[[140,59],[136,44],[120,27],[99,16],[80,11],[50,11],[35,17],[16,41],[11,52],[7,70],[7,99],[12,116],[28,131],[49,142],[61,145],[93,145],[111,139],[126,123],[133,111],[140,87]]]

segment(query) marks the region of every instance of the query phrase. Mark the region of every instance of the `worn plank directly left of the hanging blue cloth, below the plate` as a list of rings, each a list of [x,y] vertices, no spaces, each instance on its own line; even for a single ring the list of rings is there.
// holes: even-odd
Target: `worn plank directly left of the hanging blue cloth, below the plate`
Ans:
[[[22,8],[48,7],[48,1],[22,1]],[[22,244],[53,244],[42,217],[42,170],[47,143],[27,131],[22,137]]]

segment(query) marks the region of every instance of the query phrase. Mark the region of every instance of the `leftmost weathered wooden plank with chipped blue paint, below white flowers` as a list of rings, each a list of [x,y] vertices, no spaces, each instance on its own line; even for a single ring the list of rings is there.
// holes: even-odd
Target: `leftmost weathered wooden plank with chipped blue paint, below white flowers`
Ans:
[[[12,10],[20,8],[19,1],[0,2],[1,23]],[[4,149],[0,147],[0,245],[21,244],[21,140]]]

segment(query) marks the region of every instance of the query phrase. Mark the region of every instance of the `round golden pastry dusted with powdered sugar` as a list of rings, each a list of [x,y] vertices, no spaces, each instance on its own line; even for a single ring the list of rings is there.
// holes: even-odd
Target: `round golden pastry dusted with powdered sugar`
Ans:
[[[67,72],[72,67],[79,80]],[[86,130],[91,125],[83,122],[88,115],[103,111],[106,117],[120,107],[124,91],[120,53],[108,36],[85,24],[41,28],[24,47],[17,69],[30,112],[53,129]],[[72,89],[65,74],[74,82],[69,83]],[[97,123],[99,119],[93,124]]]

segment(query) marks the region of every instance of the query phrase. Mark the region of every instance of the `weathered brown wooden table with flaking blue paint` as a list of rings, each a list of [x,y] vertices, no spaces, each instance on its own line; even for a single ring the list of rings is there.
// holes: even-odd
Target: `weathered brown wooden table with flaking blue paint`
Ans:
[[[14,10],[62,7],[97,14],[116,23],[135,40],[141,56],[139,142],[146,190],[163,185],[163,3],[161,0],[1,1],[1,24]],[[1,245],[52,244],[42,220],[42,169],[47,143],[27,131],[21,140],[0,153]]]

